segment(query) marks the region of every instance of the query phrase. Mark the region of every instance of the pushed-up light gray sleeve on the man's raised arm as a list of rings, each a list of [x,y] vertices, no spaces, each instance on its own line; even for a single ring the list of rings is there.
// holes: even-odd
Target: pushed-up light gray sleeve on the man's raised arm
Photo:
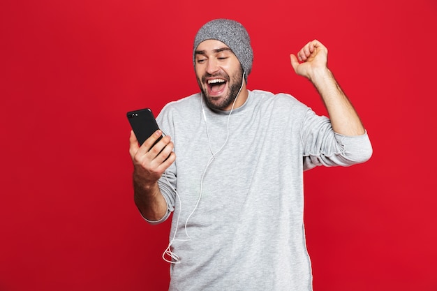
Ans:
[[[347,167],[364,163],[373,152],[367,132],[355,136],[335,133],[329,119],[312,110],[306,112],[302,122],[301,139],[304,170],[318,165]]]

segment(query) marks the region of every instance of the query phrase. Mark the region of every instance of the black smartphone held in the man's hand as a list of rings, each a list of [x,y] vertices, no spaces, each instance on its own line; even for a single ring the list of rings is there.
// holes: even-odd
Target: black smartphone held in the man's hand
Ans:
[[[140,145],[159,129],[154,114],[151,112],[150,108],[129,111],[127,117],[131,124],[131,128],[133,129],[133,133],[135,133]],[[159,137],[156,142],[161,140],[161,138],[162,136]]]

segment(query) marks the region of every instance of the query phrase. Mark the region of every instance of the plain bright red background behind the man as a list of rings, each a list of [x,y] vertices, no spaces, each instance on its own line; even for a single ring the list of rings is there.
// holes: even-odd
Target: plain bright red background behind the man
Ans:
[[[373,142],[305,174],[315,290],[437,290],[437,4],[417,1],[0,3],[0,290],[165,290],[169,224],[133,204],[128,110],[198,91],[197,29],[242,22],[249,89],[325,114],[288,55],[318,38]]]

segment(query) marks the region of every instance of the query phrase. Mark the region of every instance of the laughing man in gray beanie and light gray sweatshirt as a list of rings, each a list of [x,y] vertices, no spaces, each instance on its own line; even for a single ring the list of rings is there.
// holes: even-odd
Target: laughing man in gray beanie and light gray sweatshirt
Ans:
[[[131,132],[134,197],[161,223],[173,211],[170,290],[312,290],[303,171],[367,161],[369,137],[327,68],[306,44],[291,65],[318,89],[329,118],[288,94],[249,91],[253,52],[238,22],[212,20],[195,36],[200,93],[166,105],[141,147]]]

